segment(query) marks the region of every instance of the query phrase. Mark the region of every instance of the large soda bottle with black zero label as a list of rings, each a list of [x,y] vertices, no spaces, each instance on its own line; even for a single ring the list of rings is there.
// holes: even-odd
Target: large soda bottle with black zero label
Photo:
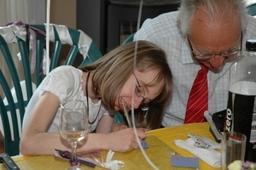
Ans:
[[[230,67],[230,90],[225,131],[247,136],[245,161],[256,161],[256,40],[249,39],[246,53]]]

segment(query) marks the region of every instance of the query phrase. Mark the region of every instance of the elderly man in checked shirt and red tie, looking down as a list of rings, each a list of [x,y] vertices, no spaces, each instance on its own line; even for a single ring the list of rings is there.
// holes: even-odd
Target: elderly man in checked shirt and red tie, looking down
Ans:
[[[163,127],[203,122],[204,111],[227,108],[229,68],[248,38],[256,38],[256,20],[247,15],[243,0],[182,0],[179,11],[145,20],[134,40],[163,48],[173,74]],[[195,92],[198,74],[206,78]]]

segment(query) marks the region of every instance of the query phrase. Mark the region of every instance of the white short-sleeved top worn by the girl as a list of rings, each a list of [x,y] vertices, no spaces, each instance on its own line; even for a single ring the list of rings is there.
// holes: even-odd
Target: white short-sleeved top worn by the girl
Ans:
[[[23,119],[22,129],[26,124],[27,118],[30,116],[34,105],[38,102],[39,97],[44,94],[45,91],[49,91],[60,99],[60,103],[66,100],[79,99],[83,100],[87,104],[87,98],[84,96],[84,90],[82,88],[83,71],[76,69],[70,65],[62,65],[55,68],[44,78],[43,82],[38,86],[35,93],[32,95],[32,99],[26,107],[25,116]],[[96,118],[96,115],[100,109],[102,100],[99,100],[96,104],[89,99],[89,121],[96,121],[90,126],[90,132],[96,129],[98,122],[103,115],[108,115],[108,111],[105,105],[102,104],[101,111]],[[50,107],[50,105],[49,105]],[[47,131],[49,133],[59,133],[59,119],[60,119],[60,106],[56,112],[52,122],[49,123]]]

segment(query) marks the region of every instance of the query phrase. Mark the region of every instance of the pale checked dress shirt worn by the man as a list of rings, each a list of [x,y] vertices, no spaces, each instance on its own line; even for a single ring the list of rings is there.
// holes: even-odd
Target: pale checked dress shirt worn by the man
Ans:
[[[182,37],[179,31],[177,14],[178,11],[175,11],[145,20],[134,37],[134,40],[154,42],[166,51],[173,75],[173,93],[163,117],[162,125],[164,127],[183,124],[189,92],[197,72],[201,69],[201,66],[192,59],[187,39]],[[246,30],[243,31],[241,54],[244,54],[247,39],[256,38],[256,19],[251,16],[247,17],[248,24]],[[225,65],[218,69],[211,69],[207,73],[208,110],[210,113],[223,111],[227,108],[231,62],[232,59],[226,60]]]

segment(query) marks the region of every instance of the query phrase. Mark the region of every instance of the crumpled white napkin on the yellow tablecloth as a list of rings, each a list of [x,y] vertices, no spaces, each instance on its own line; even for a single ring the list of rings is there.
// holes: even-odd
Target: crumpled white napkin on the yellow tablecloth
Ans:
[[[215,149],[220,149],[220,144],[205,137],[196,136],[189,133],[190,138],[187,140],[175,139],[177,147],[188,150],[193,155],[206,161],[212,167],[221,167],[221,153]]]

